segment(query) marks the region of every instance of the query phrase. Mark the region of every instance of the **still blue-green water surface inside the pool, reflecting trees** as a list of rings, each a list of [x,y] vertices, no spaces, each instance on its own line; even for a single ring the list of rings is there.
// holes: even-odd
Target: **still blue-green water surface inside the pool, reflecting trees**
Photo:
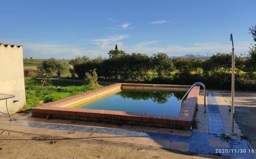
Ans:
[[[185,92],[122,90],[81,108],[178,116],[183,95]]]

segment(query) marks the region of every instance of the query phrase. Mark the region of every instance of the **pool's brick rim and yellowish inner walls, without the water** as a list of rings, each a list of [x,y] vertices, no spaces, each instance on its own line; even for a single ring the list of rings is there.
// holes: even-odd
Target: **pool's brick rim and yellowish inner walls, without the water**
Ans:
[[[55,119],[96,121],[140,126],[158,126],[178,129],[190,129],[190,126],[192,126],[198,103],[199,86],[194,87],[188,94],[188,97],[186,98],[183,108],[181,108],[178,116],[160,116],[156,114],[127,113],[125,111],[71,108],[73,105],[79,105],[80,103],[89,100],[96,100],[111,93],[113,94],[120,92],[122,88],[133,90],[188,90],[190,86],[118,83],[99,88],[98,90],[92,90],[80,95],[54,101],[52,103],[47,103],[42,106],[37,106],[32,108],[32,117],[46,118],[48,116]]]

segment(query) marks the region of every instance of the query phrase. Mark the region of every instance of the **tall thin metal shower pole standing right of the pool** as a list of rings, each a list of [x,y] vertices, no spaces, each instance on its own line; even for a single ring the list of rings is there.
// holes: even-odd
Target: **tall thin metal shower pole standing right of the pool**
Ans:
[[[235,113],[235,49],[234,49],[234,41],[233,35],[231,33],[231,41],[232,41],[232,82],[231,82],[231,132],[234,133],[234,113]]]

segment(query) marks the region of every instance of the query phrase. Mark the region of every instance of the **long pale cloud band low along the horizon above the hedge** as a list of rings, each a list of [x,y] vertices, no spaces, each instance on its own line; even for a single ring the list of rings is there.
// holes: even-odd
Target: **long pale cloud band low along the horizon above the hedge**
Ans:
[[[114,49],[117,44],[119,49],[126,51],[126,53],[145,53],[152,55],[157,52],[167,53],[169,56],[182,56],[185,54],[200,54],[211,55],[220,53],[230,53],[230,43],[193,43],[186,46],[181,45],[165,45],[161,46],[158,41],[142,41],[134,45],[124,45],[121,41],[128,38],[128,35],[115,35],[109,38],[94,40],[96,47],[84,48],[82,46],[74,45],[58,45],[52,43],[19,43],[24,48],[24,57],[34,58],[65,58],[71,59],[75,56],[89,56],[90,58],[97,58],[98,56],[107,57],[107,52]],[[235,54],[246,54],[249,51],[250,41],[235,41]]]

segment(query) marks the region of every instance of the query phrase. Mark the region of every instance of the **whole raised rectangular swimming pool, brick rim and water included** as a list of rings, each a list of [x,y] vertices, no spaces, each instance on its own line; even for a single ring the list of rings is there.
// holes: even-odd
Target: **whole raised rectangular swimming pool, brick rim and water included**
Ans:
[[[117,83],[32,108],[32,117],[190,129],[199,97],[190,85]]]

